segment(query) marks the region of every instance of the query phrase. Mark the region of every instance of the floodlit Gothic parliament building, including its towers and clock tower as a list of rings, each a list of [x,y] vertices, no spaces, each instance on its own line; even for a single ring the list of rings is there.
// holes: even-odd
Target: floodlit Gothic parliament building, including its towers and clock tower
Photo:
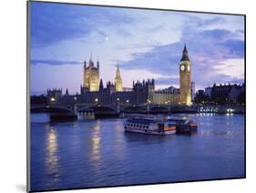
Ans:
[[[133,81],[132,87],[127,88],[122,85],[122,76],[120,67],[117,66],[116,76],[113,82],[108,81],[104,86],[103,80],[99,77],[100,64],[94,63],[92,56],[88,62],[84,61],[83,66],[83,85],[80,86],[80,94],[77,94],[77,100],[80,103],[87,104],[145,104],[153,105],[186,105],[192,104],[194,93],[194,84],[191,82],[191,64],[187,47],[184,46],[182,56],[179,62],[179,88],[169,86],[168,88],[156,90],[155,80],[148,79],[143,81]],[[58,90],[48,90],[47,96],[56,96]],[[58,96],[62,96],[58,91]],[[68,100],[71,96],[68,91],[60,100]]]

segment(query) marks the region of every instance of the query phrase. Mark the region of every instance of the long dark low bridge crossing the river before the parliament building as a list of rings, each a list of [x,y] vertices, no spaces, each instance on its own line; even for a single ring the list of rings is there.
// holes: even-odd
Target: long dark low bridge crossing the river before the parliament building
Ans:
[[[31,112],[60,112],[77,115],[78,113],[87,112],[117,112],[117,113],[212,113],[212,114],[223,114],[223,113],[244,113],[245,109],[243,106],[200,106],[194,105],[191,107],[187,106],[174,106],[174,105],[155,105],[155,104],[116,104],[109,106],[108,104],[85,104],[85,103],[74,103],[74,104],[38,104],[31,105]]]

